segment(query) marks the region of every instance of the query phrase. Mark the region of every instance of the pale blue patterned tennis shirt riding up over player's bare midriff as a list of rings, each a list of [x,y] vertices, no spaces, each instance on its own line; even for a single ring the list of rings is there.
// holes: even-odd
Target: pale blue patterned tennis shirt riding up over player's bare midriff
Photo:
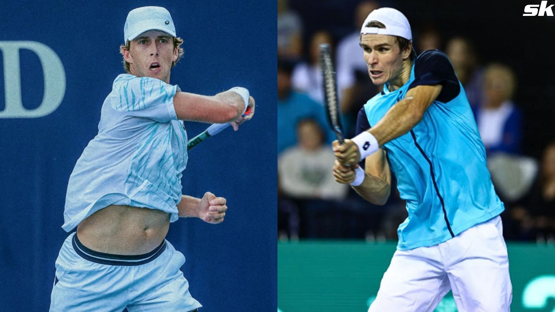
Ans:
[[[119,75],[104,100],[98,134],[77,160],[65,196],[70,232],[108,205],[170,213],[178,219],[187,134],[175,114],[177,85],[150,77]]]

